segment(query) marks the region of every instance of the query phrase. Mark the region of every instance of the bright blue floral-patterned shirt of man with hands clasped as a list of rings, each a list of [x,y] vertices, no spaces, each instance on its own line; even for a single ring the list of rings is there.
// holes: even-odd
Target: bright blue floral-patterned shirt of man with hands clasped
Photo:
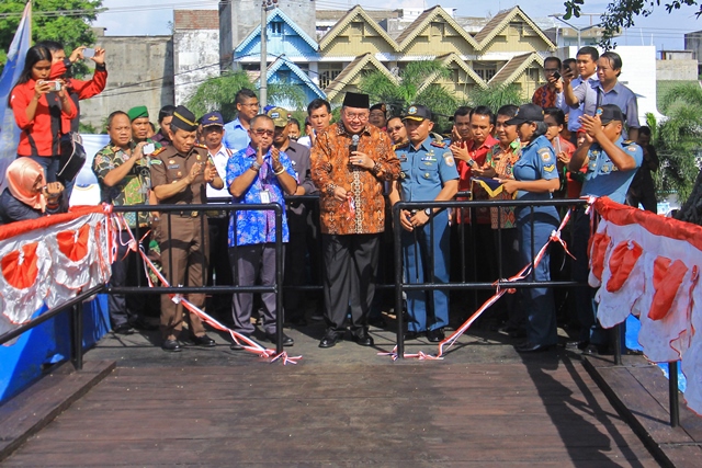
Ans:
[[[227,162],[227,187],[236,178],[245,173],[256,161],[256,150],[250,146],[231,155]],[[281,164],[285,168],[285,172],[295,178],[295,170],[290,162],[287,155],[281,151]],[[239,198],[234,198],[233,203],[262,203],[261,192],[267,191],[270,203],[278,203],[283,207],[283,242],[290,239],[287,229],[287,218],[285,216],[285,201],[283,198],[283,189],[278,183],[278,176],[273,173],[271,163],[271,152],[263,158],[263,165],[257,178],[249,189],[244,192]],[[235,219],[236,216],[236,219]],[[236,222],[236,238],[234,224]],[[231,212],[229,216],[229,247],[246,246],[252,243],[275,242],[275,213],[271,210],[246,210]]]

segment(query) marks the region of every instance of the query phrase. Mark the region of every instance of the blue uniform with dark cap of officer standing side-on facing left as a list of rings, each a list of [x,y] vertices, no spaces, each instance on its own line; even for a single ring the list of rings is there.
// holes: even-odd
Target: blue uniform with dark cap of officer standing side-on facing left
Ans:
[[[507,121],[507,125],[520,125],[524,122],[543,122],[543,110],[535,104],[524,104],[519,107],[516,117]],[[534,138],[522,148],[522,155],[514,163],[512,173],[518,181],[558,179],[556,155],[545,136]],[[521,190],[517,192],[517,199],[522,201],[551,198],[550,192],[535,193]],[[558,228],[558,212],[554,206],[534,206],[533,208],[524,206],[518,207],[514,215],[519,236],[519,259],[521,266],[524,266],[532,262],[533,256],[548,242],[551,232]],[[526,279],[533,282],[551,281],[548,264],[550,255],[546,250],[541,262]],[[528,344],[523,347],[518,346],[517,350],[540,351],[555,345],[558,341],[558,334],[553,290],[550,287],[525,288],[522,289],[522,298],[526,315]]]

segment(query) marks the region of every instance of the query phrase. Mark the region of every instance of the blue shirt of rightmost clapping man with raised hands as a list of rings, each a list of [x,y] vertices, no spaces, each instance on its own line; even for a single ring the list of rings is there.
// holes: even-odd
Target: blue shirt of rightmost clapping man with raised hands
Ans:
[[[624,152],[634,158],[636,168],[631,171],[620,171],[612,160],[602,151],[602,147],[597,142],[592,144],[588,151],[588,171],[585,174],[581,195],[609,196],[613,202],[624,203],[626,191],[632,183],[636,170],[641,168],[644,160],[644,151],[633,141],[624,141],[621,136],[614,142],[621,146]]]

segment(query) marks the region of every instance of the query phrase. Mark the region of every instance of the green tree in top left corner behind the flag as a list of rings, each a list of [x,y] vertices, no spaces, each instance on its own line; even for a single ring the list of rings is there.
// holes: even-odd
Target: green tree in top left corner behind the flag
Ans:
[[[0,3],[0,64],[7,61],[7,53],[20,24],[26,0],[3,0]],[[66,55],[76,47],[95,43],[90,23],[100,13],[102,0],[34,0],[32,5],[32,39],[57,41],[64,44]],[[1,70],[0,70],[1,71]],[[83,64],[76,64],[73,76],[88,71]]]

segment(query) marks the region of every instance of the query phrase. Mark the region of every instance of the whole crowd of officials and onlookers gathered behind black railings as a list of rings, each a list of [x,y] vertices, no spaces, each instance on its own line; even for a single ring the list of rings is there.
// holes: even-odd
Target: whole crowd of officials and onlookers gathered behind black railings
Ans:
[[[105,53],[91,52],[91,80],[68,78],[83,47],[69,57],[60,44],[42,43],[26,56],[23,73],[10,96],[21,140],[18,159],[7,171],[8,189],[0,198],[0,224],[33,219],[68,208],[72,180],[60,176],[58,142],[77,128],[79,101],[93,96],[106,82]],[[307,106],[304,125],[287,110],[260,110],[256,93],[236,95],[237,118],[225,123],[218,112],[197,118],[186,107],[167,105],[158,115],[158,132],[148,110],[112,112],[106,119],[110,144],[94,157],[102,201],[140,205],[148,210],[125,214],[126,225],[140,232],[149,255],[160,260],[171,285],[273,285],[275,239],[284,243],[284,315],[286,323],[304,327],[321,319],[326,332],[319,347],[335,346],[347,332],[363,346],[373,345],[369,326],[383,326],[376,285],[392,277],[392,237],[400,230],[407,283],[494,282],[532,263],[561,224],[553,205],[401,210],[398,202],[520,199],[609,196],[615,202],[655,210],[652,171],[658,167],[650,130],[638,123],[635,94],[619,82],[622,61],[581,48],[564,62],[545,59],[546,84],[532,103],[500,109],[461,106],[443,137],[434,130],[430,102],[388,112],[383,103],[349,92],[339,122],[329,102]],[[638,141],[638,142],[636,142]],[[309,197],[303,195],[317,195]],[[230,202],[229,202],[230,201]],[[212,204],[206,213],[191,204]],[[273,210],[223,210],[219,203],[283,206],[282,232]],[[159,213],[158,205],[182,205]],[[165,221],[168,217],[168,222]],[[582,208],[569,225],[576,260],[571,278],[588,275],[589,216]],[[458,237],[471,261],[456,252]],[[134,276],[136,253],[129,233],[120,232],[111,284],[125,286]],[[453,249],[453,252],[452,252]],[[463,249],[461,249],[463,251]],[[500,252],[498,254],[498,251]],[[453,254],[452,254],[453,253]],[[385,261],[383,261],[385,259]],[[498,264],[498,259],[500,264]],[[548,251],[531,278],[552,278]],[[456,270],[461,270],[456,272]],[[321,284],[322,299],[306,317],[306,300],[296,286]],[[541,352],[557,342],[556,303],[548,287],[523,288],[496,307],[501,327],[523,339],[519,352]],[[574,288],[570,322],[579,328],[578,346],[607,353],[608,333],[597,322],[595,292]],[[154,328],[148,311],[160,309],[161,347],[181,351],[182,342],[214,346],[200,318],[168,295],[159,304],[149,296],[111,294],[110,317],[115,333]],[[313,295],[314,296],[314,295]],[[410,290],[406,295],[405,340],[426,336],[440,342],[449,324],[449,293]],[[256,320],[265,338],[294,344],[282,333],[279,343],[273,293],[189,294],[196,307],[252,336]],[[456,299],[461,300],[461,299]],[[399,312],[399,311],[397,311]],[[186,327],[183,327],[186,323]],[[183,330],[186,328],[186,331]],[[241,349],[234,343],[233,349]]]

